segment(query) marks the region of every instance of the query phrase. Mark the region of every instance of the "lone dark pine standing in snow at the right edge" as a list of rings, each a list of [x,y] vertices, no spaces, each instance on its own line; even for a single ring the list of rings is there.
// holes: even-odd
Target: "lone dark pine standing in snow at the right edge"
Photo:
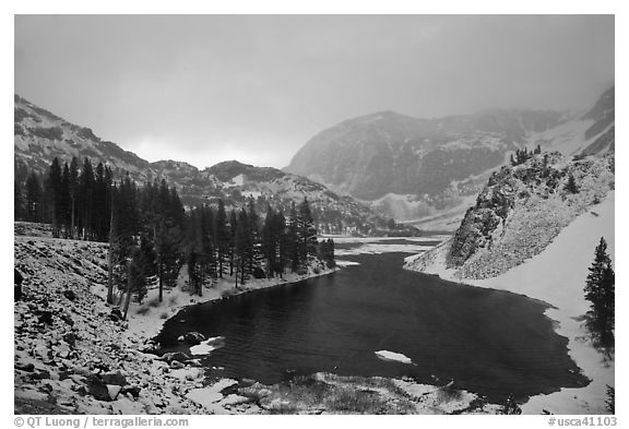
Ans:
[[[602,331],[614,326],[615,318],[615,273],[607,253],[607,242],[601,241],[594,251],[594,262],[585,281],[585,299],[591,302],[592,317]]]

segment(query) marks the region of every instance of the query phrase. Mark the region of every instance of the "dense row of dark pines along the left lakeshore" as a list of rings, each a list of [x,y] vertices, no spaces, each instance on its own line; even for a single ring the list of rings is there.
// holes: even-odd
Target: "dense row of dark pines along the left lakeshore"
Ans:
[[[114,180],[102,163],[94,168],[85,158],[80,168],[76,158],[63,166],[55,158],[48,175],[16,168],[14,203],[16,221],[50,223],[56,237],[108,241],[107,300],[126,309],[131,296],[142,301],[153,282],[162,300],[183,265],[199,295],[227,275],[238,286],[305,273],[317,258],[334,265],[334,243],[318,241],[307,199],[293,202],[286,215],[266,206],[264,218],[253,199],[229,213],[223,200],[186,212],[164,179],[138,187],[129,175]]]

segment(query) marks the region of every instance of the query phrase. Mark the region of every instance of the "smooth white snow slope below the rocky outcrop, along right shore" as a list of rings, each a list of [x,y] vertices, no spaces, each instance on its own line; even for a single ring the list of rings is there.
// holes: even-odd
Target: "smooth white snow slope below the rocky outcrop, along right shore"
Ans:
[[[541,414],[547,409],[555,414],[605,414],[606,384],[614,386],[614,361],[605,362],[590,342],[582,317],[589,309],[583,296],[588,267],[594,259],[594,249],[605,237],[612,260],[614,240],[615,193],[610,191],[602,203],[578,216],[539,254],[505,274],[487,279],[463,279],[464,283],[494,289],[509,290],[544,300],[549,308],[546,315],[558,323],[557,333],[569,341],[571,358],[592,382],[580,389],[562,389],[548,395],[531,397],[522,406],[523,413]],[[444,257],[449,241],[431,252],[429,261],[422,261],[413,269],[438,274],[444,279],[461,282],[454,270],[446,269]]]

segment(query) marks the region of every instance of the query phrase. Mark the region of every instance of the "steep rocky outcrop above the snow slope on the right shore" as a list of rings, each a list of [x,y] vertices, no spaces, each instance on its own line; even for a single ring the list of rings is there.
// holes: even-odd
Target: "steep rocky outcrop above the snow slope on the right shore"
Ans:
[[[568,186],[573,180],[575,188]],[[614,157],[535,155],[495,172],[454,236],[407,267],[459,279],[498,276],[542,252],[578,215],[614,189]]]

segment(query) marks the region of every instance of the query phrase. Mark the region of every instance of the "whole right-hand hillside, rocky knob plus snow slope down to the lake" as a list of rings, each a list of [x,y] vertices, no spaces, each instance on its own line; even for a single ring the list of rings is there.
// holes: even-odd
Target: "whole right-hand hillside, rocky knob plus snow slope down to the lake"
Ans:
[[[524,413],[604,414],[614,382],[614,353],[600,349],[583,322],[583,287],[601,237],[614,259],[614,158],[569,160],[556,153],[495,174],[454,237],[406,260],[406,267],[474,286],[541,299],[569,339],[569,353],[591,383],[532,397]],[[579,192],[566,189],[575,178]]]

